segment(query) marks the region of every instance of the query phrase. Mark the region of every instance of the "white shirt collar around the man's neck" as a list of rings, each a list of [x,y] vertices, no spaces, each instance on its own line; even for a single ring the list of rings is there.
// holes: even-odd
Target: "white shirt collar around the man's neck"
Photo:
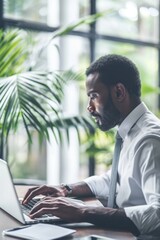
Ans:
[[[128,134],[132,126],[137,122],[137,120],[148,111],[146,105],[142,102],[140,103],[129,115],[123,120],[118,128],[119,135],[124,140],[125,136]]]

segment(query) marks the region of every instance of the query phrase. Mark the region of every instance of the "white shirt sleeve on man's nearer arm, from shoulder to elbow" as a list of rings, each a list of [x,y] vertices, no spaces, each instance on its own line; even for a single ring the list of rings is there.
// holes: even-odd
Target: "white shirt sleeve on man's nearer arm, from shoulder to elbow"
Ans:
[[[146,205],[125,207],[125,213],[141,234],[160,234],[160,138],[143,139],[135,152]]]

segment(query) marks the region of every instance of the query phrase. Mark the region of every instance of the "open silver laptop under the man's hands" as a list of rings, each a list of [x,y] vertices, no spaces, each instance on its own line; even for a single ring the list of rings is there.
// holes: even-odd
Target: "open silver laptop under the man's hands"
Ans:
[[[6,161],[0,159],[0,208],[17,219],[22,224],[32,223],[64,223],[62,219],[52,216],[43,215],[40,218],[31,219],[26,211],[23,209],[18,199],[15,186],[13,184],[13,178]]]

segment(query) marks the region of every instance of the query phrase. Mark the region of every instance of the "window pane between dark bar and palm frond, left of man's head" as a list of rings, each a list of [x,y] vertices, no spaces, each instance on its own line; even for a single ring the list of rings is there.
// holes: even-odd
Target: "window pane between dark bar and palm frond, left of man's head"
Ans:
[[[88,39],[68,35],[57,37],[52,41],[52,35],[52,33],[27,31],[29,57],[26,64],[29,68],[84,71],[89,64]]]

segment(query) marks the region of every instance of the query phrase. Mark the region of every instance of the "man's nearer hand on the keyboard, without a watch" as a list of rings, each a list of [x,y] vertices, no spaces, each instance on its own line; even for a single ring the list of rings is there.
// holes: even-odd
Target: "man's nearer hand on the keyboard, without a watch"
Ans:
[[[86,205],[82,203],[66,197],[46,197],[33,207],[30,217],[36,218],[43,214],[52,214],[67,222],[81,222],[86,209]]]

